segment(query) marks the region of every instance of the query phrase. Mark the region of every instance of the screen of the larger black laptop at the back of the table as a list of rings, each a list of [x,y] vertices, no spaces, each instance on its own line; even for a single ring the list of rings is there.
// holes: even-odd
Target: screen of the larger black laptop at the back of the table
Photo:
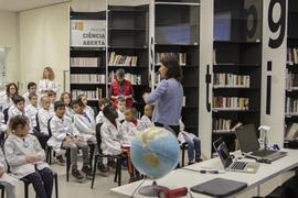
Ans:
[[[248,153],[259,148],[255,124],[238,127],[235,133],[242,152]]]

